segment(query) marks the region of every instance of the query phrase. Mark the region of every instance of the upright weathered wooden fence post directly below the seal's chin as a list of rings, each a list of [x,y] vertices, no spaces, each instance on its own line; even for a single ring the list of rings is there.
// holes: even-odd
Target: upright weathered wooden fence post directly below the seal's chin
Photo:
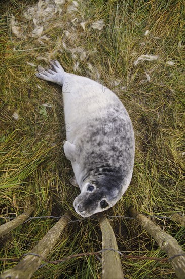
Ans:
[[[98,213],[100,228],[102,232],[102,250],[118,250],[113,229],[103,213]],[[102,252],[102,279],[122,279],[123,269],[118,252],[107,250]]]

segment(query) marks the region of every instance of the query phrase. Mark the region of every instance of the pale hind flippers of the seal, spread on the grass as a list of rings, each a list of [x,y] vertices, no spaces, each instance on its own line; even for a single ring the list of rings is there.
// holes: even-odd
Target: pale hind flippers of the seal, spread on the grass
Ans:
[[[63,85],[63,76],[65,74],[64,69],[57,60],[50,60],[50,68],[44,69],[42,66],[38,66],[38,73],[36,77]]]

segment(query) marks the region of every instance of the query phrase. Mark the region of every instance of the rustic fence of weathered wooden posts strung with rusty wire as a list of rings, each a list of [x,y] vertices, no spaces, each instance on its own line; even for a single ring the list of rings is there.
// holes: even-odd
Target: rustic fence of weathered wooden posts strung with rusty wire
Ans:
[[[145,216],[138,211],[136,211],[133,207],[130,207],[128,213],[130,217],[125,216],[109,216],[113,217],[122,217],[135,219],[139,222],[139,224],[150,233],[150,235],[157,241],[159,247],[166,252],[168,258],[155,258],[155,257],[141,257],[134,255],[125,255],[118,251],[117,241],[113,232],[113,229],[109,223],[109,220],[105,217],[103,213],[98,214],[100,228],[102,232],[102,250],[97,252],[87,252],[80,253],[75,255],[70,255],[65,258],[61,258],[56,261],[49,261],[46,257],[52,251],[55,246],[56,241],[59,239],[61,233],[65,229],[68,223],[70,222],[78,222],[80,220],[72,221],[72,214],[70,211],[67,211],[62,217],[54,217],[54,216],[40,216],[40,217],[30,217],[34,208],[28,208],[24,213],[16,218],[7,218],[13,219],[6,224],[0,226],[0,237],[10,232],[20,224],[27,222],[30,219],[34,218],[57,218],[59,221],[48,231],[48,233],[43,237],[42,240],[39,241],[38,245],[36,245],[29,253],[22,255],[21,257],[14,258],[0,258],[0,261],[14,261],[19,262],[15,267],[4,271],[0,275],[0,279],[19,279],[19,278],[31,278],[32,274],[39,268],[41,265],[41,261],[45,261],[45,263],[58,264],[62,261],[69,260],[71,258],[83,257],[83,256],[91,256],[102,254],[102,279],[115,278],[120,279],[124,278],[121,258],[131,258],[131,259],[149,259],[156,261],[170,261],[177,277],[179,279],[185,278],[185,252],[178,245],[178,242],[170,236],[168,233],[161,230],[159,226],[154,224],[149,216]],[[171,217],[166,216],[154,216],[159,219],[170,219],[177,222],[179,225],[184,226],[185,218],[180,216],[177,213],[174,213]],[[110,264],[111,263],[111,264]],[[112,267],[114,264],[114,268]]]

